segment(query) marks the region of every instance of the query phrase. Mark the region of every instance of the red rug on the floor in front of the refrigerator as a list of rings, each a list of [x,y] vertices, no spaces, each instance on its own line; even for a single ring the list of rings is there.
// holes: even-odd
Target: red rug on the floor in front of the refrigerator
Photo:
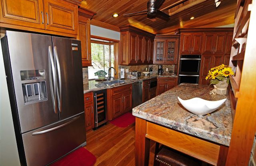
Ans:
[[[51,166],[93,166],[96,157],[87,149],[80,147]]]

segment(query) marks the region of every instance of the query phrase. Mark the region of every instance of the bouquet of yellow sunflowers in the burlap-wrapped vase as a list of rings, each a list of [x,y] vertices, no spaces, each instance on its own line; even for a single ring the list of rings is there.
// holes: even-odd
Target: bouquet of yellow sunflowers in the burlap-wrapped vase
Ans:
[[[224,80],[227,80],[227,84],[229,84],[229,76],[231,75],[234,75],[232,68],[227,65],[221,64],[219,66],[211,68],[205,79],[211,79],[211,84],[218,84],[220,81]]]

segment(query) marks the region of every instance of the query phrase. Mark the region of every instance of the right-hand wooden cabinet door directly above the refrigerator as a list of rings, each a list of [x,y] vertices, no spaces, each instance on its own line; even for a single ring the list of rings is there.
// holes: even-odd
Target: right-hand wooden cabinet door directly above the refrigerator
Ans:
[[[78,7],[66,2],[44,0],[46,29],[77,34]]]

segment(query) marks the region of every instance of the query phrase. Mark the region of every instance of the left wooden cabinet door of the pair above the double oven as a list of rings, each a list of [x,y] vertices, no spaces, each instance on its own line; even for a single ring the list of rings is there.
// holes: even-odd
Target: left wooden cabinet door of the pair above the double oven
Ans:
[[[180,54],[190,54],[192,34],[181,34],[180,36]]]

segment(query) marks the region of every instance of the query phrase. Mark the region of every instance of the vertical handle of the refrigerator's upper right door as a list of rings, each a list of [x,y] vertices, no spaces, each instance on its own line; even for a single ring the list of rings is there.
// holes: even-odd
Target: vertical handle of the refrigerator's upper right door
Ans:
[[[58,76],[59,76],[59,85],[60,85],[60,89],[58,88],[58,84],[57,84],[57,96],[58,96],[58,106],[60,109],[60,112],[62,111],[62,87],[61,87],[61,72],[60,72],[60,61],[59,61],[59,56],[58,56],[58,51],[57,51],[57,47],[54,46],[54,54],[56,57],[56,64],[57,64],[57,70],[58,70]]]

